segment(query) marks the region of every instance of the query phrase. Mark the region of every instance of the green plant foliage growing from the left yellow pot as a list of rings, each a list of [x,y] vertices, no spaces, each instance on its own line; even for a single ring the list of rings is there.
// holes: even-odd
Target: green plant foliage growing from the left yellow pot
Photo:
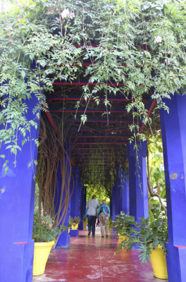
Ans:
[[[39,217],[35,213],[32,231],[35,242],[56,241],[57,236],[66,230],[66,226],[54,227],[54,220],[49,215]]]

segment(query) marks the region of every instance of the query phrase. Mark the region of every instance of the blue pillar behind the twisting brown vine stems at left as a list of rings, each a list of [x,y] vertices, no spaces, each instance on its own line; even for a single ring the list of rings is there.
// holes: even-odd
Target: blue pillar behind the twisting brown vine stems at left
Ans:
[[[68,149],[68,157],[70,158],[71,151]],[[68,171],[68,175],[70,173],[70,163],[68,161],[68,157],[65,157],[65,163],[66,168]],[[67,183],[67,178],[66,178]],[[59,208],[59,201],[61,197],[61,184],[62,184],[62,177],[61,177],[61,164],[59,162],[58,164],[58,171],[57,171],[57,184],[56,184],[56,194],[55,194],[55,212],[58,213]],[[66,189],[63,190],[63,200],[64,201],[66,197]],[[68,198],[70,197],[70,194],[68,195]],[[63,213],[63,209],[60,211],[60,216]],[[68,202],[68,211],[66,213],[66,219],[64,221],[64,226],[68,226],[68,219],[70,216],[70,201]],[[61,220],[63,221],[63,219]],[[61,224],[61,223],[60,223]],[[59,224],[59,225],[60,225]],[[56,244],[56,247],[67,247],[70,244],[70,235],[68,234],[68,230],[61,233],[60,237],[58,238],[58,242]]]

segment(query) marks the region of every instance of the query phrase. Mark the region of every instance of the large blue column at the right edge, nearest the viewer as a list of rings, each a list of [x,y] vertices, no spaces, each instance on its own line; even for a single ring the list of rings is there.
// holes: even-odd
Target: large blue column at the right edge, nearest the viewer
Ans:
[[[181,94],[181,93],[180,93]],[[186,99],[166,100],[160,111],[168,214],[168,281],[186,281]]]

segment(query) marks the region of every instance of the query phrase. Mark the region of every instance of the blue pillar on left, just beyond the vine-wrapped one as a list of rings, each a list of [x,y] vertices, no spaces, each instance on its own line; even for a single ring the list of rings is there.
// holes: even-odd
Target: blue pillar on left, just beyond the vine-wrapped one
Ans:
[[[74,178],[74,190],[71,197],[70,216],[77,217],[81,216],[81,194],[82,194],[82,183],[80,182],[80,168],[72,168],[72,177]],[[79,226],[78,226],[79,229]],[[77,236],[77,231],[70,231],[70,235]]]

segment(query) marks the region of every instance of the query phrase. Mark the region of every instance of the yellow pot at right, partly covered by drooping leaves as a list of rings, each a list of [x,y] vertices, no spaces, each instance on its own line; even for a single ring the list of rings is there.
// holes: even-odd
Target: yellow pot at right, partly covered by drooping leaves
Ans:
[[[166,256],[163,254],[161,245],[159,245],[156,250],[152,250],[151,254],[151,266],[154,271],[154,276],[161,279],[168,279]]]

